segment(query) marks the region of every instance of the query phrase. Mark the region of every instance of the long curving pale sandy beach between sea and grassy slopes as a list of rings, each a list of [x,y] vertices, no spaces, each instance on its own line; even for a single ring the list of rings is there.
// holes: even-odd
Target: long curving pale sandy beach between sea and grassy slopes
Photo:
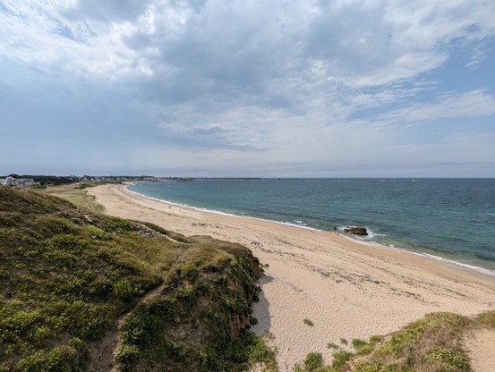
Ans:
[[[272,334],[280,371],[329,342],[388,334],[433,311],[473,315],[495,309],[495,277],[411,253],[350,241],[332,232],[169,206],[101,185],[89,190],[107,213],[203,234],[252,249],[262,264],[257,334]],[[305,325],[308,318],[314,325]],[[495,345],[491,343],[491,354]],[[486,369],[490,371],[490,369]]]

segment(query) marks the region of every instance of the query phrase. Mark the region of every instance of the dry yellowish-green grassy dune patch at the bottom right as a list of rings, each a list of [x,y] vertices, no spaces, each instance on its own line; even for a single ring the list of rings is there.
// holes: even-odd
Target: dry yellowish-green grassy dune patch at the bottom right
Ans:
[[[495,330],[495,311],[476,317],[432,313],[387,337],[372,335],[368,342],[354,339],[354,352],[329,342],[328,347],[337,350],[331,366],[325,366],[321,354],[310,353],[303,366],[294,366],[294,372],[469,372],[464,340],[472,331],[485,328]],[[340,342],[348,343],[343,338]]]

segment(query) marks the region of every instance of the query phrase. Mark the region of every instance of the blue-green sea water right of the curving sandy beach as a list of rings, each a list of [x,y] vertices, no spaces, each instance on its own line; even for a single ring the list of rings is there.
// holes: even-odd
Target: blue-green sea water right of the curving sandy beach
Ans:
[[[495,271],[495,179],[200,179],[128,189],[306,228],[366,226],[366,243]]]

